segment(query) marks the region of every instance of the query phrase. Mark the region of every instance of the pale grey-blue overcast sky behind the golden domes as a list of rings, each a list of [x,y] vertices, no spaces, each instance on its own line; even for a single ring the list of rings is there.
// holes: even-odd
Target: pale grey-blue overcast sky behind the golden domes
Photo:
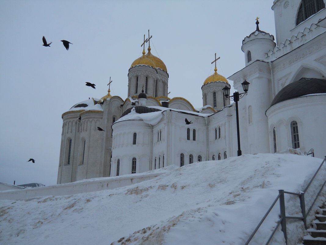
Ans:
[[[214,73],[244,67],[242,40],[259,27],[275,36],[273,0],[0,2],[0,182],[54,185],[62,113],[88,97],[127,96],[128,69],[143,35],[169,73],[170,98],[202,106]],[[42,36],[51,47],[42,46]],[[60,40],[67,40],[67,51]],[[148,45],[148,44],[147,44]],[[96,84],[96,90],[85,82]],[[232,86],[232,83],[230,83]],[[34,158],[33,164],[27,162]]]

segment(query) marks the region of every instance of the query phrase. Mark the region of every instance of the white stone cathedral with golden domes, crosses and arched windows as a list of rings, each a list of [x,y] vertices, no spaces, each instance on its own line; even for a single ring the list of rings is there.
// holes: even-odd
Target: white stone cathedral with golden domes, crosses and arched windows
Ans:
[[[258,19],[242,41],[245,67],[228,77],[239,93],[244,80],[250,83],[238,102],[242,154],[294,148],[325,155],[325,3],[274,0],[276,43],[259,29]],[[109,89],[101,99],[63,113],[57,183],[237,156],[235,103],[223,94],[230,85],[216,63],[214,74],[203,79],[201,108],[169,98],[168,80],[166,65],[151,54],[149,43],[147,54],[143,50],[128,70],[125,100]]]

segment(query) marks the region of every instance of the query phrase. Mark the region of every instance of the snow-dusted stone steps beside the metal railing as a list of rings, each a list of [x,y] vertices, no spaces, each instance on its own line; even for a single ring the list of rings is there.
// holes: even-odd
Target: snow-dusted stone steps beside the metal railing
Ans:
[[[326,245],[326,208],[323,206],[322,214],[316,214],[314,227],[308,229],[309,235],[304,237],[304,245]]]

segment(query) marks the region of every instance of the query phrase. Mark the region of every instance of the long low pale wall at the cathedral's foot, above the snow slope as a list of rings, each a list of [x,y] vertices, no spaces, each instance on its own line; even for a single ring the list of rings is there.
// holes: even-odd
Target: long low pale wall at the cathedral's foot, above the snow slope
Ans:
[[[103,177],[87,180],[80,180],[67,184],[60,184],[47,187],[28,188],[22,190],[4,190],[0,191],[0,200],[19,200],[41,196],[64,196],[84,192],[93,192],[106,189],[128,186],[140,183],[145,180],[153,179],[169,170],[170,167],[161,168],[156,171],[126,174],[115,177]]]

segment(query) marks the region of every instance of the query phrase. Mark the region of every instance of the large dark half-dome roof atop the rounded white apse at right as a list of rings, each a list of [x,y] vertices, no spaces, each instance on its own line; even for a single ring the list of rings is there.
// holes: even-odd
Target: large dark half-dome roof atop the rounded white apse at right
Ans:
[[[290,83],[281,89],[281,91],[276,94],[271,106],[285,100],[314,93],[326,93],[326,80],[302,77],[300,80]]]

